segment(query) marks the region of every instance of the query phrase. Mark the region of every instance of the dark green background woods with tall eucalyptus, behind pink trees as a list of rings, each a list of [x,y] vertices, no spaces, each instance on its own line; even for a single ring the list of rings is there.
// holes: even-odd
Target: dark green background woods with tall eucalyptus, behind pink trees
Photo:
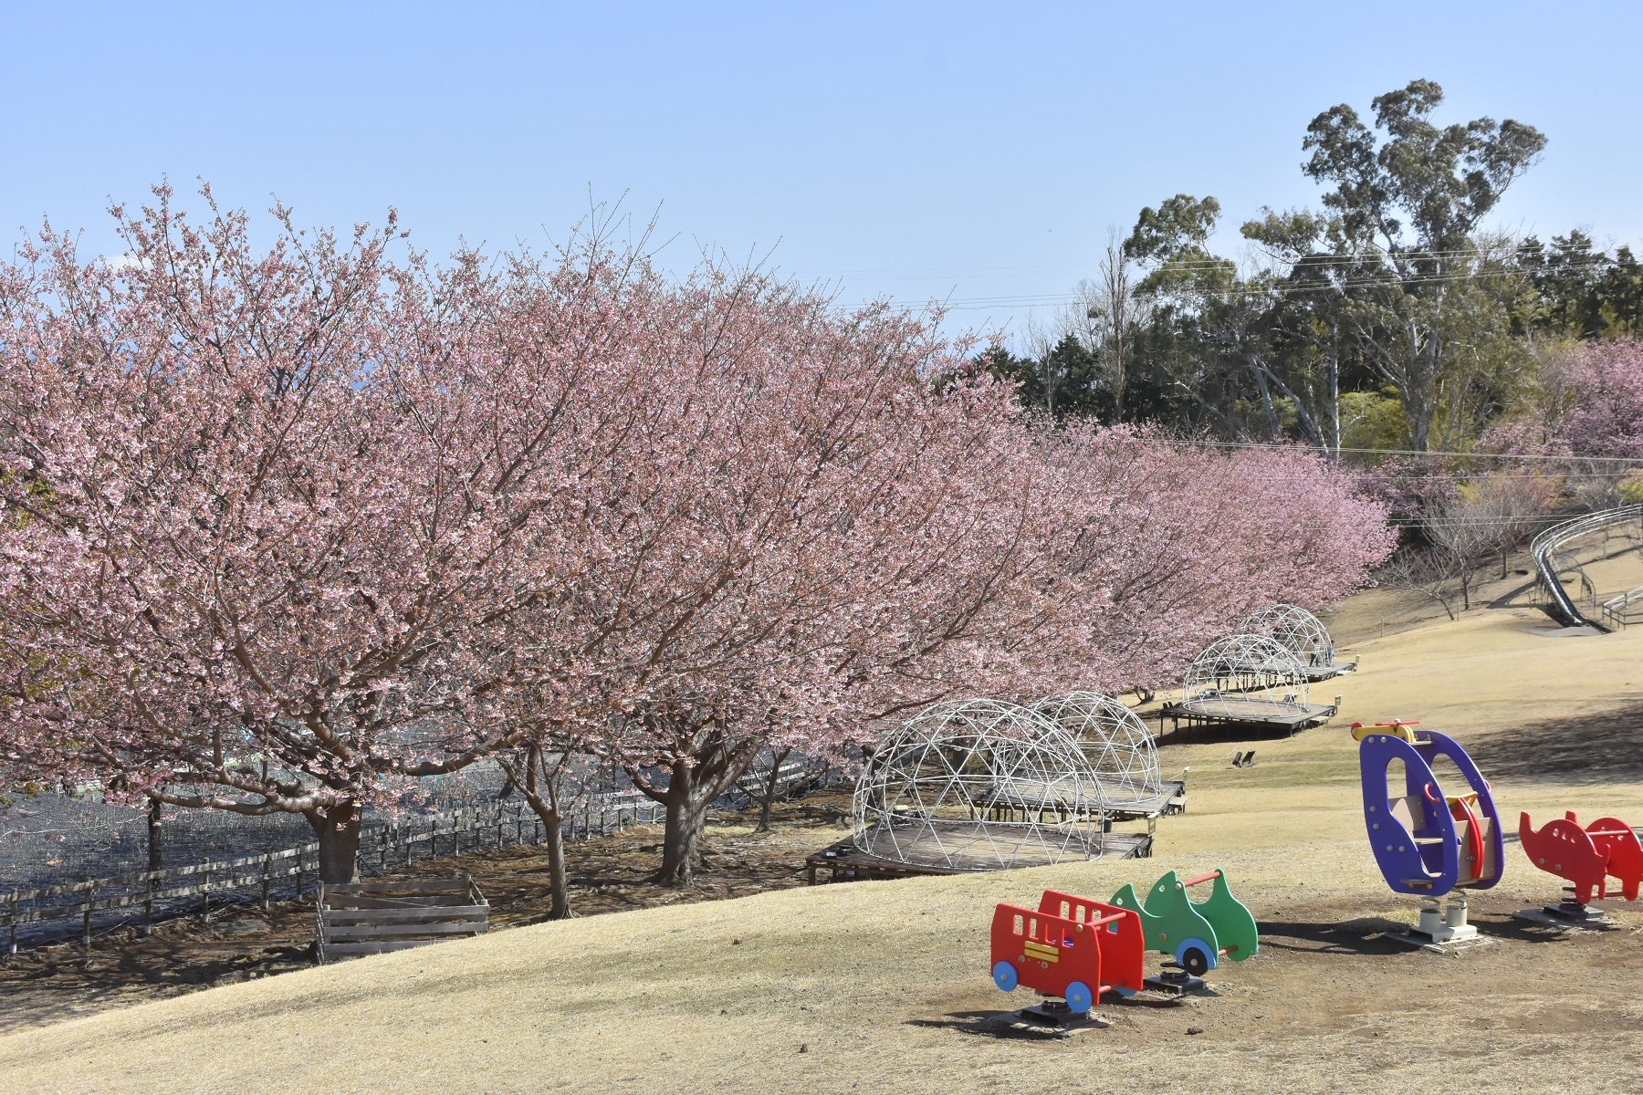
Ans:
[[[1319,113],[1301,141],[1318,208],[1254,210],[1237,256],[1213,250],[1214,197],[1140,210],[1060,315],[976,366],[1058,420],[1221,442],[1351,455],[1559,437],[1581,346],[1638,330],[1643,266],[1581,230],[1489,228],[1548,136],[1510,118],[1439,123],[1441,105],[1438,84],[1415,80],[1367,118]]]

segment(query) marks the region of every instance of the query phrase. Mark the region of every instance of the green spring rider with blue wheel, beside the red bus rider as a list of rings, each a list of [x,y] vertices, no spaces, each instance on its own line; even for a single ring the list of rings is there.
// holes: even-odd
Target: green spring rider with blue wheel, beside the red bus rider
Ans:
[[[1214,883],[1209,896],[1193,901],[1188,890],[1206,882]],[[1147,949],[1171,955],[1185,970],[1183,975],[1165,970],[1162,977],[1150,978],[1147,983],[1155,988],[1181,992],[1201,985],[1198,978],[1216,969],[1222,957],[1244,962],[1260,949],[1255,916],[1232,896],[1222,870],[1198,878],[1181,878],[1171,870],[1147,891],[1145,905],[1132,885],[1114,893],[1112,905],[1140,916]]]

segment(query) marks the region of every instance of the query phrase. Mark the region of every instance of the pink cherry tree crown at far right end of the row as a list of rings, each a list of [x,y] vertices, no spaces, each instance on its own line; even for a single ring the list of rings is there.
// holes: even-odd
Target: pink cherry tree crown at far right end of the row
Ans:
[[[1397,543],[1367,483],[1300,447],[1217,450],[1122,427],[1055,443],[1076,494],[1102,499],[1081,519],[1078,565],[1109,594],[1083,621],[1083,678],[1065,686],[1173,680],[1257,607],[1339,601]]]

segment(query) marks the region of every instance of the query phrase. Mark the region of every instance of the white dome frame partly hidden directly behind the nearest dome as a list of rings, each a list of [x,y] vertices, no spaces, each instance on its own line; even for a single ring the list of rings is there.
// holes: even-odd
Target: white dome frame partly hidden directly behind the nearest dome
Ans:
[[[1178,793],[1165,786],[1158,745],[1129,704],[1098,691],[1045,696],[1033,704],[1073,735],[1101,785],[1107,813],[1148,814]]]

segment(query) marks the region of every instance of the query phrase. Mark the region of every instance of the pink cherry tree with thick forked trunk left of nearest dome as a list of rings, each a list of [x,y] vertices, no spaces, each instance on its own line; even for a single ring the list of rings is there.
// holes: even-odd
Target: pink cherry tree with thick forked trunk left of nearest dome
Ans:
[[[672,399],[590,519],[601,573],[541,634],[598,647],[606,755],[665,806],[660,877],[685,882],[761,749],[836,752],[1019,675],[1066,515],[1010,392],[935,383],[963,355],[930,322],[723,271],[670,300],[636,356]]]

